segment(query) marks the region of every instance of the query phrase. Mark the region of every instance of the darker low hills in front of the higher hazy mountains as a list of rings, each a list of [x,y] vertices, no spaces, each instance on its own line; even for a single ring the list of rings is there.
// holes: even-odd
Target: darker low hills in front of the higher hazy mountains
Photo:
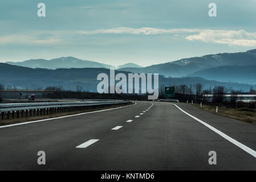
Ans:
[[[42,69],[42,68],[26,68],[6,63],[0,63],[0,84],[5,87],[16,86],[18,89],[44,89],[47,86],[61,85],[66,90],[76,90],[76,86],[80,85],[83,90],[96,92],[97,75],[99,73],[106,73],[109,75],[109,69],[105,68],[59,68],[59,69]],[[130,72],[115,71],[115,73],[124,73],[128,75]],[[127,76],[128,77],[128,76]],[[201,77],[164,77],[159,76],[159,86],[170,85],[194,85],[200,82],[204,88],[208,89],[210,86],[223,85],[226,88],[233,88],[243,91],[249,91],[251,85],[238,84],[234,82],[220,82],[214,80],[206,80]]]

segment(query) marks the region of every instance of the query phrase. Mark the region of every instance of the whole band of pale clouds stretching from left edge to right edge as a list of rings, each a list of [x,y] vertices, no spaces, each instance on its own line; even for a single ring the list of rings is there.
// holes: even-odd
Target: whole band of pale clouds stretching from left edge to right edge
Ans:
[[[184,38],[189,41],[202,41],[207,43],[228,44],[230,46],[256,46],[256,32],[245,30],[200,30],[186,28],[129,28],[117,27],[92,31],[33,31],[30,34],[13,34],[0,36],[0,44],[60,44],[75,43],[78,39],[74,35],[96,34],[135,34],[158,35],[172,34],[174,38]],[[66,40],[66,41],[65,41]],[[68,41],[67,41],[68,40]],[[79,39],[80,40],[80,39]]]

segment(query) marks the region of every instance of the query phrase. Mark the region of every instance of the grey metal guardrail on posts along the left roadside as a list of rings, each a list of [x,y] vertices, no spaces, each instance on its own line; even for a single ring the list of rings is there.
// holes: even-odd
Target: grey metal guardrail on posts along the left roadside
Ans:
[[[126,104],[131,103],[132,101],[80,101],[80,102],[34,102],[34,103],[18,103],[18,104],[1,104],[0,113],[2,119],[5,119],[5,113],[7,113],[7,119],[10,118],[10,114],[14,118],[14,114],[17,113],[17,118],[19,118],[19,111],[24,116],[24,111],[26,112],[26,117],[32,116],[32,111],[34,115],[43,114],[52,114],[52,113],[63,113],[68,111],[84,110],[88,107],[100,107],[104,105],[113,105],[113,104]]]

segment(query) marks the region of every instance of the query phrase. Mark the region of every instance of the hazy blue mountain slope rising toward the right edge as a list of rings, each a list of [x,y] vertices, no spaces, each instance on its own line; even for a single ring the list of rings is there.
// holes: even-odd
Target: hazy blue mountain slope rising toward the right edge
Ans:
[[[145,68],[121,68],[119,70],[134,73],[159,73],[165,77],[198,76],[210,80],[255,84],[255,69],[246,69],[250,65],[253,67],[256,65],[256,49],[238,53],[191,57]]]

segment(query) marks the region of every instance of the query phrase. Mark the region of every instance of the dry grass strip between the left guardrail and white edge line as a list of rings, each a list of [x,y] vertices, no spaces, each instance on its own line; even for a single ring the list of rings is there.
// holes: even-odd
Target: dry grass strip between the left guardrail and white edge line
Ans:
[[[96,111],[96,110],[104,110],[104,109],[111,109],[115,107],[120,107],[120,106],[126,106],[126,105],[131,105],[131,104],[118,104],[118,105],[112,105],[109,107],[102,107],[102,108],[97,108],[97,109],[87,109],[87,110],[79,110],[79,111],[71,111],[67,113],[56,113],[56,114],[46,114],[46,115],[36,115],[32,117],[27,117],[27,118],[11,118],[10,119],[1,119],[1,113],[0,113],[0,125],[10,125],[14,123],[22,123],[22,122],[28,122],[28,121],[36,121],[40,119],[48,119],[48,118],[56,118],[56,117],[62,117],[64,115],[72,115],[72,114],[79,114],[79,113],[87,113],[90,111]],[[20,116],[21,117],[21,116]]]

